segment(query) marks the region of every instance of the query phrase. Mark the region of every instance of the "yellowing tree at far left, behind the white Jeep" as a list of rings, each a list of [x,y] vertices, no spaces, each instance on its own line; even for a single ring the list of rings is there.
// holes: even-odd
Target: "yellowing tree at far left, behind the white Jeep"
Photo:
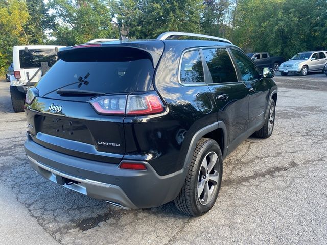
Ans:
[[[13,46],[28,43],[24,30],[28,17],[24,0],[0,2],[0,74],[4,74],[12,61]]]

